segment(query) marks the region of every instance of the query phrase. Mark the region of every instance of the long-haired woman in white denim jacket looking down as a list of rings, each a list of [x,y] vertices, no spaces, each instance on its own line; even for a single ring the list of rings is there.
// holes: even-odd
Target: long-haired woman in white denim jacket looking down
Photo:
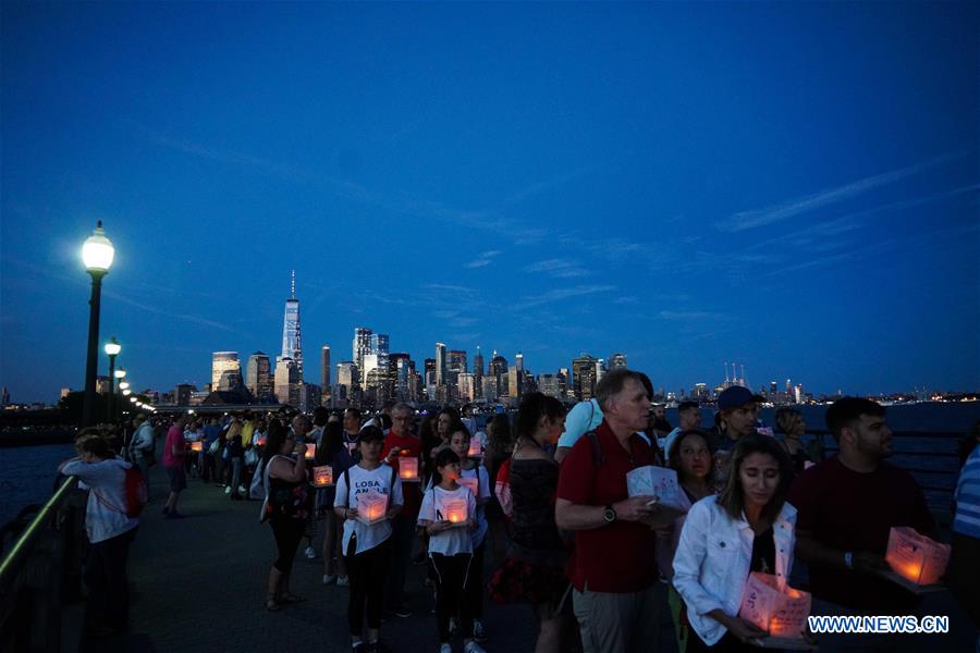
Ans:
[[[688,653],[740,650],[765,632],[738,617],[751,571],[789,577],[796,544],[796,508],[786,503],[789,459],[775,440],[747,435],[732,456],[722,492],[687,514],[674,555],[674,587],[698,638]],[[737,517],[736,517],[737,516]]]

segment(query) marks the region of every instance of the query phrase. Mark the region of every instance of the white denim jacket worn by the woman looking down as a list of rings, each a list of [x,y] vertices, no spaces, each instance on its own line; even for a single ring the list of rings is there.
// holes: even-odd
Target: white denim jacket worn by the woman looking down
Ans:
[[[749,576],[755,532],[743,513],[734,520],[707,496],[691,506],[674,554],[674,588],[687,604],[691,628],[709,646],[727,630],[708,616],[712,609],[736,616]],[[796,508],[783,504],[772,525],[775,540],[775,576],[789,577],[796,544]]]

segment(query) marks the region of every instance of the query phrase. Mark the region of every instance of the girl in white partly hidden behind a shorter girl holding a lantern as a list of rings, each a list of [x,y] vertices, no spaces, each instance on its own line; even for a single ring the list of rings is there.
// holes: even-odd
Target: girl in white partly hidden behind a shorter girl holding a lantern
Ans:
[[[469,604],[473,614],[473,637],[483,639],[483,541],[489,525],[483,506],[490,501],[490,475],[480,465],[479,458],[469,457],[470,435],[465,429],[458,429],[450,436],[450,448],[460,456],[461,484],[468,483],[477,504],[476,528],[471,531],[473,563],[466,577],[463,590],[463,602]],[[474,489],[476,485],[476,489]]]

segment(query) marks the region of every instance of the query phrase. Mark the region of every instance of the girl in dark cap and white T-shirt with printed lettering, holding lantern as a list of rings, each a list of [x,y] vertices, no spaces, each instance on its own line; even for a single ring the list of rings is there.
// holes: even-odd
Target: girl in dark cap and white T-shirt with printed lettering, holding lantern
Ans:
[[[336,481],[333,510],[344,520],[343,551],[351,581],[351,599],[347,603],[347,624],[355,651],[378,648],[378,630],[381,627],[381,607],[384,600],[384,577],[391,558],[391,519],[405,503],[402,481],[388,465],[382,465],[381,447],[384,433],[377,427],[366,427],[357,436],[360,461],[347,469]],[[358,512],[360,495],[382,502],[375,509],[380,520],[372,521]],[[367,502],[364,504],[367,505]],[[367,628],[364,615],[367,613]]]

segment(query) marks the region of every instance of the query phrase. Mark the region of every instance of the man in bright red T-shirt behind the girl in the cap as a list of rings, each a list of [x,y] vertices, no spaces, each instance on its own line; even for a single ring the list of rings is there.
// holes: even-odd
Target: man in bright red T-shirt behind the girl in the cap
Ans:
[[[395,472],[399,471],[400,458],[411,457],[421,464],[421,440],[409,431],[414,418],[415,409],[408,404],[400,403],[391,408],[391,430],[384,436],[381,456]],[[418,469],[421,470],[421,467]],[[402,492],[405,503],[402,512],[391,522],[392,557],[384,601],[388,612],[399,617],[411,617],[412,611],[405,605],[405,575],[412,564],[412,544],[415,541],[415,523],[421,505],[421,491],[418,482],[406,483],[403,480]]]

